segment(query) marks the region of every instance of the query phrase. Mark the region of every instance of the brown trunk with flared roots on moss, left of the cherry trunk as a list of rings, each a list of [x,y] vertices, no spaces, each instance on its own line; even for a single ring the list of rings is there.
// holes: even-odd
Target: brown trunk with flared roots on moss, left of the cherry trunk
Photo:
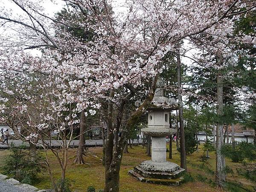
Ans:
[[[77,153],[76,153],[76,159],[74,160],[74,163],[77,164],[84,164],[84,145],[85,145],[85,139],[84,139],[84,131],[85,131],[85,115],[84,115],[84,110],[81,111],[81,117],[80,117],[80,134],[79,134],[79,144],[77,148]]]

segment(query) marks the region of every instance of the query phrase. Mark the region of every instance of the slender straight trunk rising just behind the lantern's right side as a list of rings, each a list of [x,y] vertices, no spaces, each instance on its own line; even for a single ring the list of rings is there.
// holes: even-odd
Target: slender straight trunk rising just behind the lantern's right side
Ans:
[[[177,82],[178,82],[178,100],[182,102],[181,96],[181,67],[180,55],[177,54]],[[186,170],[186,148],[185,148],[185,131],[183,125],[183,108],[179,108],[180,119],[180,167]]]

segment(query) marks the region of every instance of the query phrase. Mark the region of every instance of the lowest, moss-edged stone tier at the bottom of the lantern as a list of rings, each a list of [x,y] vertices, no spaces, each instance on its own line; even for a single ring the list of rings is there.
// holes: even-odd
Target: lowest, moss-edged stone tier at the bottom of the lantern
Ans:
[[[153,183],[153,184],[160,184],[160,185],[167,185],[167,186],[180,186],[183,180],[183,177],[179,177],[177,179],[155,179],[155,178],[143,177],[142,175],[135,172],[134,170],[130,170],[128,174],[135,177],[137,180],[143,183]]]

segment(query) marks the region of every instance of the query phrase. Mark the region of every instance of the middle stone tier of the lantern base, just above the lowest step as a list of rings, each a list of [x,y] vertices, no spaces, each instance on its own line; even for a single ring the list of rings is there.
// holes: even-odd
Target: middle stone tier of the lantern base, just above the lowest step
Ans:
[[[134,167],[134,171],[142,175],[143,177],[149,177],[154,179],[176,179],[182,175],[184,169],[180,168],[175,172],[166,173],[166,172],[148,172],[139,166]]]

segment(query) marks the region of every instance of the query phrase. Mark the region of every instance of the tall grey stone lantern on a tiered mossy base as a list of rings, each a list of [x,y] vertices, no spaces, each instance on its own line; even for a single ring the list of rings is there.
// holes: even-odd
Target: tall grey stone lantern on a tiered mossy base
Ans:
[[[129,175],[141,182],[178,186],[183,179],[180,176],[184,169],[166,161],[166,136],[176,132],[176,129],[170,128],[170,111],[182,107],[182,103],[177,104],[174,99],[164,97],[163,85],[163,80],[159,79],[154,98],[148,108],[148,127],[141,129],[152,138],[151,160],[135,166],[134,170],[129,171]]]

